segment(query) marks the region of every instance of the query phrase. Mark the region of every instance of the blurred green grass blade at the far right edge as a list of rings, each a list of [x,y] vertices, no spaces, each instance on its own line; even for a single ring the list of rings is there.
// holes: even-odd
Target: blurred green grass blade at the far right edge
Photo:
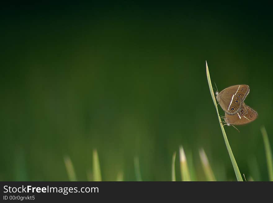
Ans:
[[[266,161],[267,161],[269,181],[273,181],[272,151],[270,148],[270,143],[269,143],[268,135],[266,132],[266,128],[264,126],[261,128],[261,132],[262,132],[263,142],[264,142],[265,151],[266,151]]]

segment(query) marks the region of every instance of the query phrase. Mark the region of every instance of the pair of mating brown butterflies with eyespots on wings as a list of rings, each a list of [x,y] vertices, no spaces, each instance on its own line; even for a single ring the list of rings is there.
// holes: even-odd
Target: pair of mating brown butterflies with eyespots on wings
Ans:
[[[248,85],[234,85],[216,92],[216,99],[225,111],[226,125],[244,125],[257,118],[258,113],[244,104],[248,93]]]

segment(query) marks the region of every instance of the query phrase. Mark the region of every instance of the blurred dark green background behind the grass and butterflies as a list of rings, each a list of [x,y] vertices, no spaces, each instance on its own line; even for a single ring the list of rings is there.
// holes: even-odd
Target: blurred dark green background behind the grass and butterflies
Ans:
[[[1,8],[0,180],[78,180],[97,149],[102,180],[171,180],[183,145],[195,180],[204,148],[217,180],[236,180],[208,88],[248,84],[259,116],[225,127],[240,172],[268,180],[273,148],[272,12],[248,4],[5,5]],[[224,115],[222,109],[220,113]],[[177,179],[180,180],[178,154]]]

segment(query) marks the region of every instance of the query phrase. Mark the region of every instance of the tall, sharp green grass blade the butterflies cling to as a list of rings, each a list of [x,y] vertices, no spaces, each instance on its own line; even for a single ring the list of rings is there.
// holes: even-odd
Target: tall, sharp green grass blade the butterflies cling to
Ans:
[[[215,106],[215,108],[216,108],[218,120],[219,120],[220,127],[221,127],[221,130],[222,130],[223,136],[224,136],[225,143],[226,143],[226,148],[227,148],[227,151],[228,151],[228,153],[229,153],[230,160],[231,160],[231,163],[232,163],[232,165],[233,165],[233,169],[234,169],[236,178],[237,178],[238,181],[243,181],[242,175],[241,175],[241,173],[240,173],[240,171],[239,171],[238,165],[237,165],[237,163],[236,163],[236,160],[235,160],[234,155],[233,155],[233,153],[232,153],[232,150],[231,150],[231,148],[230,148],[230,144],[229,144],[229,142],[228,142],[228,139],[227,139],[227,136],[226,136],[226,132],[225,132],[224,126],[223,126],[222,121],[221,121],[221,118],[220,118],[220,116],[219,116],[219,111],[218,111],[218,108],[217,108],[217,103],[216,103],[216,99],[215,99],[214,92],[213,92],[213,87],[212,87],[211,80],[210,80],[210,76],[209,76],[207,61],[206,61],[206,71],[207,71],[207,79],[208,79],[208,86],[209,86],[210,94],[211,94],[211,97],[212,97],[212,99],[213,99],[214,106]]]

